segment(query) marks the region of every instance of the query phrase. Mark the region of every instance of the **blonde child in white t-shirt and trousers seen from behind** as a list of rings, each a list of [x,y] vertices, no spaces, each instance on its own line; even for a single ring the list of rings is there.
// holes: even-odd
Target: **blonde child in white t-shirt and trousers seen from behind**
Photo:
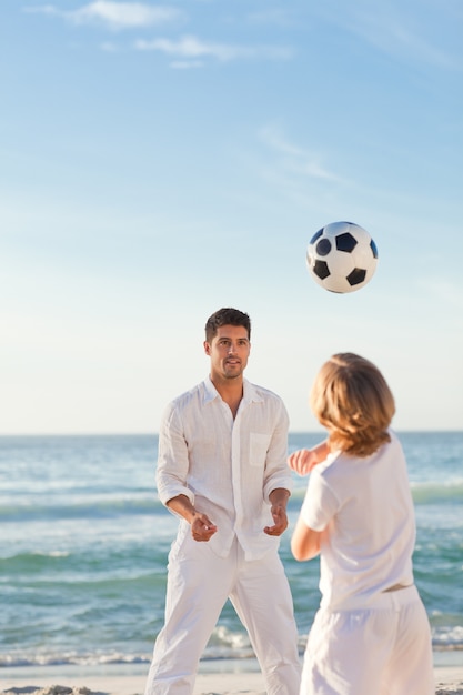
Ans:
[[[394,397],[374,364],[341,353],[322,366],[310,404],[328,440],[289,457],[311,472],[291,548],[299,561],[321,556],[300,694],[433,695],[413,502],[390,429]]]

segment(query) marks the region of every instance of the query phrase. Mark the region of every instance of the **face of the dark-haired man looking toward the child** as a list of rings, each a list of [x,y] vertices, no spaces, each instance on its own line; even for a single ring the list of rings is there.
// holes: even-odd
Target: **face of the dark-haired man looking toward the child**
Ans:
[[[211,376],[222,380],[242,375],[251,350],[248,331],[242,325],[222,325],[204,352],[211,357]]]

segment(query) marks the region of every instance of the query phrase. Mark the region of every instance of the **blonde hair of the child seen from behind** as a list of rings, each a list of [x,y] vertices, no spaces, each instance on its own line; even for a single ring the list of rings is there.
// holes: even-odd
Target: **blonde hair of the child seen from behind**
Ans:
[[[369,456],[391,440],[394,396],[380,370],[356,354],[334,354],[320,370],[310,405],[329,431],[330,447]]]

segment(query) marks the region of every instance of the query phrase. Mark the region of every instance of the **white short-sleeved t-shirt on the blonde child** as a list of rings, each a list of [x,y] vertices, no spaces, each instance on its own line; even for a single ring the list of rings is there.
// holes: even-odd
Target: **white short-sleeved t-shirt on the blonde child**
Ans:
[[[364,608],[379,592],[413,583],[413,501],[402,446],[390,435],[374,454],[336,452],[310,475],[301,515],[323,532],[322,607]]]

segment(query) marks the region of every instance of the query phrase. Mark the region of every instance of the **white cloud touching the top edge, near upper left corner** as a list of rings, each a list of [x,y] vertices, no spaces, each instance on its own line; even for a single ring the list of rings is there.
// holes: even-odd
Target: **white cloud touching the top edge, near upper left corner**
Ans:
[[[62,17],[74,24],[100,23],[110,29],[139,29],[173,21],[182,17],[180,10],[142,2],[94,0],[77,10],[60,10],[47,4],[28,11]]]

